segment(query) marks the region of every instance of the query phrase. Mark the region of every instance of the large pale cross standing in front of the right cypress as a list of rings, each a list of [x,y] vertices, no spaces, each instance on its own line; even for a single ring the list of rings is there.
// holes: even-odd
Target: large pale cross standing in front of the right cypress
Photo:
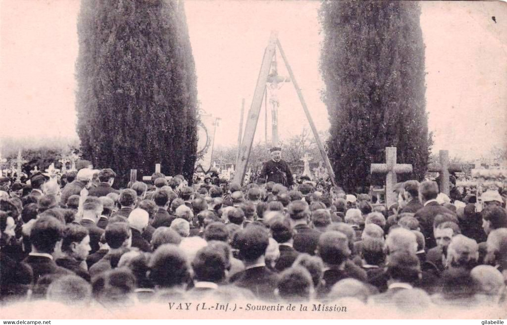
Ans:
[[[387,207],[396,203],[394,194],[394,185],[396,185],[396,175],[412,173],[412,165],[396,164],[396,147],[385,148],[385,164],[372,164],[370,168],[372,174],[386,174],[385,176],[385,202]]]

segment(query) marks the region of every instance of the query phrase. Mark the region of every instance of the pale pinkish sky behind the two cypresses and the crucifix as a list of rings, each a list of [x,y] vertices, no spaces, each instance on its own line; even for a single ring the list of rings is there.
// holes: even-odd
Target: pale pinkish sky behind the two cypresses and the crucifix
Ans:
[[[0,137],[76,137],[79,6],[78,0],[1,0]],[[185,6],[198,99],[221,118],[215,145],[237,142],[241,100],[246,115],[271,30],[278,31],[317,129],[329,128],[320,99],[319,2],[187,0]],[[422,2],[421,10],[433,151],[474,159],[507,147],[507,5]],[[277,58],[279,74],[287,75]],[[293,84],[278,96],[280,138],[308,129]],[[264,121],[263,108],[256,142],[264,141]]]

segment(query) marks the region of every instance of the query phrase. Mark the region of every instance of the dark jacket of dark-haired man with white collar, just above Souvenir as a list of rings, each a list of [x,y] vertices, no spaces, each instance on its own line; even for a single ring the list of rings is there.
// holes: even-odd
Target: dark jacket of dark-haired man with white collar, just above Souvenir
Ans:
[[[257,298],[265,301],[275,301],[275,288],[278,275],[266,266],[246,269],[233,275],[230,282],[240,288],[250,290]]]

